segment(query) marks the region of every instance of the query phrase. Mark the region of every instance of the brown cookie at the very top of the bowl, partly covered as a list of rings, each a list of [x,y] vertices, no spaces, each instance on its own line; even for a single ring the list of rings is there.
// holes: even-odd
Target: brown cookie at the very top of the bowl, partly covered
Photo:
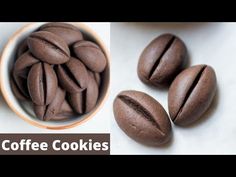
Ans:
[[[41,31],[48,31],[60,36],[68,45],[83,40],[80,30],[68,23],[47,23],[40,27]]]

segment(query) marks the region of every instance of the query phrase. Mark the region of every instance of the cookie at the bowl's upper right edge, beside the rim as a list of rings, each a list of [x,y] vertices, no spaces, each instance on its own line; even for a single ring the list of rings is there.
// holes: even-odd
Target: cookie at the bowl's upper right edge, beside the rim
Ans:
[[[90,41],[79,41],[73,45],[75,55],[94,72],[102,72],[107,60],[100,47]]]

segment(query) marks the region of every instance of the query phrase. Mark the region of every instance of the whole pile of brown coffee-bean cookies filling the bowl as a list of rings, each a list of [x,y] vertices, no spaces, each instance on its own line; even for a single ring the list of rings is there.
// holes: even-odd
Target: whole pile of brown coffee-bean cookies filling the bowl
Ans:
[[[11,86],[40,120],[64,120],[96,106],[106,67],[102,49],[77,27],[47,23],[19,45]]]

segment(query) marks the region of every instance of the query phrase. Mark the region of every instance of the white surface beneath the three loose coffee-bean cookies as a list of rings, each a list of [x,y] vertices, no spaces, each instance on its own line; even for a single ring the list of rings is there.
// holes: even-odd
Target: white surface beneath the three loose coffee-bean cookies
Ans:
[[[140,53],[162,33],[174,33],[186,43],[190,64],[214,67],[218,93],[204,118],[188,128],[173,125],[172,141],[161,148],[140,145],[117,126],[112,101],[122,90],[136,89],[156,98],[167,110],[167,90],[150,88],[136,74]],[[236,153],[236,23],[112,23],[111,24],[112,154],[235,154]]]

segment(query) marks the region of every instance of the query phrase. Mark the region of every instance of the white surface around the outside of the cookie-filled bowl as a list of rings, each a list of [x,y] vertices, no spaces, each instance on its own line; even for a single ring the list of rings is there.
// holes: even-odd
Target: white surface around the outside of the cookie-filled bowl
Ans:
[[[1,50],[8,41],[9,37],[21,26],[26,23],[0,23]],[[86,23],[95,30],[105,45],[110,48],[110,25],[109,23]],[[103,116],[109,105],[105,103],[103,109],[100,110],[92,119],[72,129],[66,130],[46,130],[34,127],[23,121],[12,112],[3,98],[0,98],[0,132],[10,133],[106,133],[109,132],[109,117]]]

